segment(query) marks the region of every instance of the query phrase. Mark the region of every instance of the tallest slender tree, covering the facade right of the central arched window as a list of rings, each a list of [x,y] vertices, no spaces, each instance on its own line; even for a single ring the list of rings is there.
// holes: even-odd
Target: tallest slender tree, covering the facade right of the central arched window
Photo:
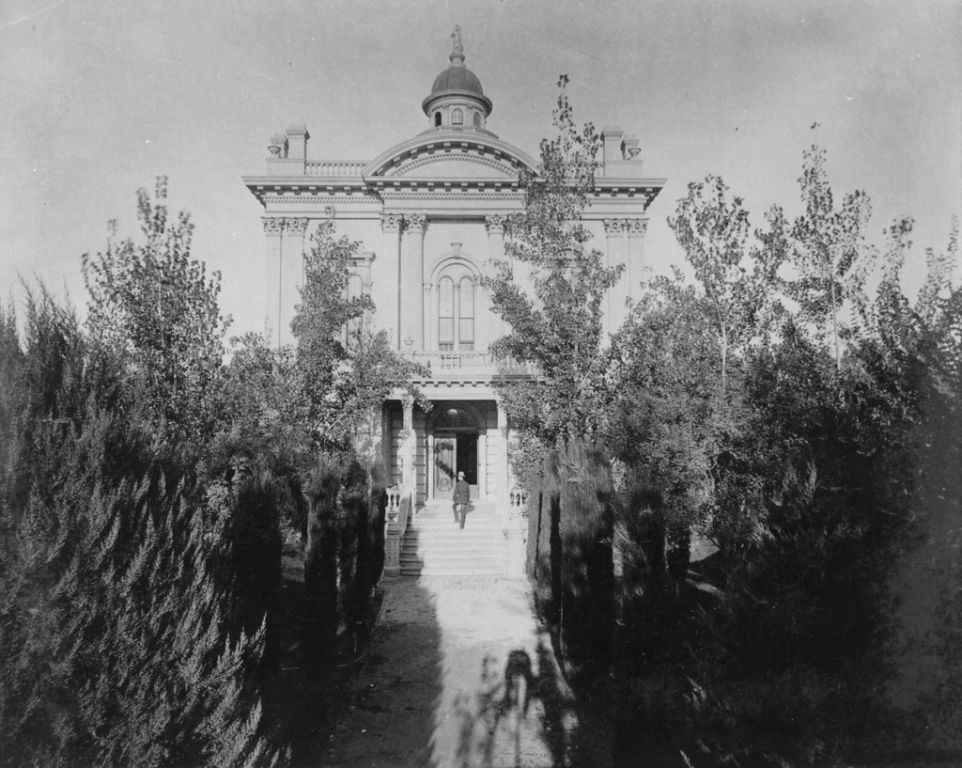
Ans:
[[[510,326],[492,351],[535,372],[502,387],[508,418],[545,445],[590,437],[603,423],[602,302],[620,275],[587,247],[591,233],[581,219],[600,138],[591,123],[575,124],[567,83],[562,75],[556,136],[541,141],[537,172],[522,172],[525,205],[509,222],[507,258],[484,283]]]

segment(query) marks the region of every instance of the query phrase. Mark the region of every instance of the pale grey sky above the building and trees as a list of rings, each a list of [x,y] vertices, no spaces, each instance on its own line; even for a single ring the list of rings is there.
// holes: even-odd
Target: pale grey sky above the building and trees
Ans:
[[[794,215],[813,142],[837,193],[869,193],[879,241],[915,218],[910,290],[962,213],[962,0],[5,0],[0,302],[42,280],[82,312],[81,255],[110,219],[135,235],[136,190],[164,174],[231,333],[259,330],[266,246],[241,176],[292,123],[312,159],[427,128],[455,24],[502,140],[537,155],[561,73],[578,121],[639,137],[645,175],[668,180],[655,271],[683,260],[666,219],[689,182],[721,175],[758,225],[773,203]]]

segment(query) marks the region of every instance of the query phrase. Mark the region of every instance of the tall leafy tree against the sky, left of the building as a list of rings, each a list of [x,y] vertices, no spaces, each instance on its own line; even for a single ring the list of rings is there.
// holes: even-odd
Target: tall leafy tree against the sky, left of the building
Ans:
[[[117,240],[85,254],[87,328],[101,350],[121,352],[127,384],[154,428],[170,442],[203,442],[213,428],[213,397],[229,324],[220,315],[220,274],[191,257],[194,225],[168,216],[166,177],[152,203],[137,192],[144,241]]]

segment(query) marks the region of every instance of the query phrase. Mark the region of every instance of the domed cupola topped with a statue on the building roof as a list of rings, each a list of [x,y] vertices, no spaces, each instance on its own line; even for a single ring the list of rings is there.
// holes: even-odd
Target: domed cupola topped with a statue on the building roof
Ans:
[[[491,99],[484,95],[477,75],[464,66],[461,27],[454,28],[451,41],[451,66],[434,79],[431,95],[421,108],[433,128],[483,130],[491,114]]]

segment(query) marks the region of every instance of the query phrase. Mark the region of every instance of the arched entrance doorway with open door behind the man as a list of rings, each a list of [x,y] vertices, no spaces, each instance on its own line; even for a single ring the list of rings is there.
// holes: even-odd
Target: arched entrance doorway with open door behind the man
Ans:
[[[477,498],[479,415],[473,408],[457,403],[440,403],[434,411],[429,422],[431,495],[436,499],[450,499],[458,472],[464,472],[465,480],[471,485],[471,496]]]

